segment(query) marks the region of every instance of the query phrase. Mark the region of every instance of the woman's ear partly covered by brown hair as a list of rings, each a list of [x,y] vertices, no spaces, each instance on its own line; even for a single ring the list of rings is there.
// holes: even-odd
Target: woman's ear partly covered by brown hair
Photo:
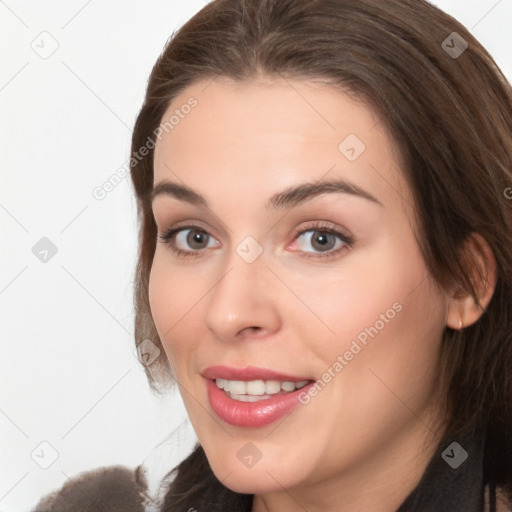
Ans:
[[[496,288],[496,258],[487,240],[478,233],[472,233],[464,243],[464,259],[474,261],[471,281],[481,304],[460,286],[448,296],[446,325],[459,330],[474,324],[487,308]],[[462,322],[462,325],[461,325]]]

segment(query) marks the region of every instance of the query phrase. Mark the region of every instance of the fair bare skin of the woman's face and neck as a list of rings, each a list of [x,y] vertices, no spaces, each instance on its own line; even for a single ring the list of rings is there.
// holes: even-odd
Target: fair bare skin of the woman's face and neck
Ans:
[[[442,332],[461,318],[471,324],[480,311],[428,275],[400,160],[370,107],[319,81],[219,77],[185,89],[164,119],[190,96],[197,107],[157,142],[154,183],[186,184],[209,208],[159,195],[153,211],[160,234],[179,223],[210,237],[190,245],[182,231],[175,242],[196,253],[189,258],[159,241],[149,297],[212,470],[227,487],[255,494],[254,512],[394,511],[440,440],[434,385]],[[338,149],[348,134],[366,145],[353,162]],[[297,207],[264,207],[286,188],[334,178],[382,204],[326,193]],[[315,221],[354,245],[335,237],[331,257],[322,258],[315,243],[322,230],[309,227]],[[250,264],[236,252],[247,236],[263,250]],[[212,411],[206,367],[251,365],[321,379],[394,303],[401,311],[284,420],[242,428]],[[261,452],[251,468],[237,457],[248,441]]]

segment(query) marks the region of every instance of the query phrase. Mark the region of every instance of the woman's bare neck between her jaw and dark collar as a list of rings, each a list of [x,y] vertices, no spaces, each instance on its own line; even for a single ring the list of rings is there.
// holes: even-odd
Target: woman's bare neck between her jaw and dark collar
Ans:
[[[432,424],[413,418],[406,431],[329,479],[255,495],[252,512],[395,512],[420,482],[442,439],[443,429],[426,426]]]

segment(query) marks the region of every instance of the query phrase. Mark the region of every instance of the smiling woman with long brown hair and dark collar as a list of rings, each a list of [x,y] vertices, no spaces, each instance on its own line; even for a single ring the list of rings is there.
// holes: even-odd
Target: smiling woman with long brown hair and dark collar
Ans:
[[[131,160],[136,339],[199,443],[159,502],[118,469],[37,510],[512,510],[511,134],[424,0],[204,7]]]

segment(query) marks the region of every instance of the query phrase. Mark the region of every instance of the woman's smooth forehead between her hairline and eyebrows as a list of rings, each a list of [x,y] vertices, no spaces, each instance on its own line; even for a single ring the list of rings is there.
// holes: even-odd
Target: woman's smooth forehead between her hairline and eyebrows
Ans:
[[[155,183],[181,180],[206,194],[223,195],[229,186],[270,196],[298,180],[344,178],[383,203],[411,202],[379,114],[332,85],[203,80],[174,98],[162,126],[171,118],[172,129],[155,148]]]

